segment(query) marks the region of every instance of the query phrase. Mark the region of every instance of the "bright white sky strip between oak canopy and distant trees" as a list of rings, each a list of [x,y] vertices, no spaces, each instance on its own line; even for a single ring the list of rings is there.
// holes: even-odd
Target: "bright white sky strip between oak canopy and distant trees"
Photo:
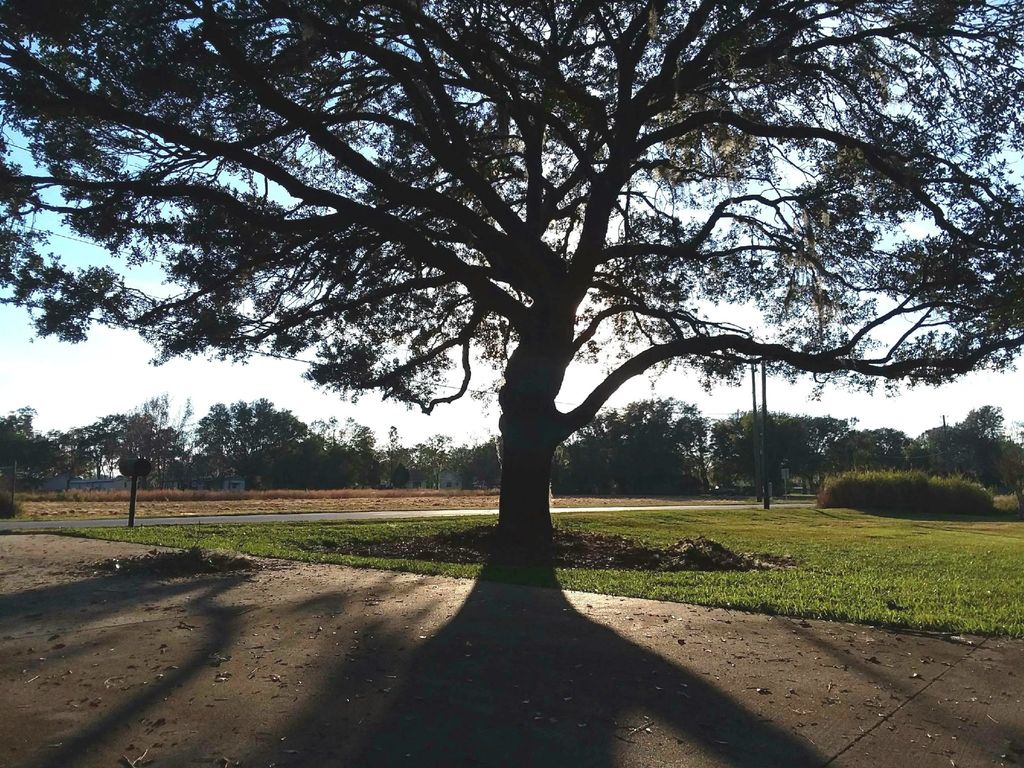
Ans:
[[[42,431],[82,426],[113,413],[123,413],[157,394],[168,393],[180,408],[190,398],[197,417],[215,402],[266,397],[309,423],[314,419],[347,418],[371,427],[381,439],[396,426],[406,444],[433,434],[446,434],[456,442],[485,438],[498,431],[494,398],[466,397],[439,406],[432,416],[382,402],[373,394],[350,402],[325,392],[302,378],[300,362],[269,357],[248,365],[191,358],[151,365],[154,350],[137,335],[97,328],[89,339],[70,344],[35,337],[25,310],[0,306],[0,414],[29,407],[38,416]],[[600,369],[578,370],[567,377],[558,402],[561,410],[578,404],[599,379]],[[769,411],[814,416],[856,418],[857,426],[894,427],[915,436],[939,426],[945,416],[950,424],[975,408],[1002,409],[1007,424],[1024,421],[1024,372],[974,373],[942,387],[918,387],[887,396],[827,388],[813,399],[810,379],[790,383],[768,380]],[[692,373],[669,372],[656,379],[638,377],[625,385],[607,408],[618,408],[645,397],[676,397],[697,404],[705,415],[722,418],[750,410],[750,380],[742,385],[720,385],[702,390]],[[760,395],[759,395],[760,397]]]

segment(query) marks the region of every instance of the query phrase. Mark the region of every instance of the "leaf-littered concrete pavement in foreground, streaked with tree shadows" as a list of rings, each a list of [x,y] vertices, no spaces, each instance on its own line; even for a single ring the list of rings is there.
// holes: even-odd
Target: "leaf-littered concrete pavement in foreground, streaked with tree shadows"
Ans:
[[[0,765],[1024,763],[1016,640],[145,549],[0,537]]]

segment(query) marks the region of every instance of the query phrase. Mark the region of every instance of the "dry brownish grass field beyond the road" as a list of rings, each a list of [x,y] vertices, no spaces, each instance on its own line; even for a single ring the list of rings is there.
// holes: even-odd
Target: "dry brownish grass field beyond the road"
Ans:
[[[168,492],[157,492],[167,495]],[[371,512],[378,510],[421,511],[431,509],[497,509],[496,492],[437,490],[357,490],[342,492],[246,492],[249,498],[197,498],[164,500],[157,493],[140,495],[136,514],[140,517],[190,515],[238,515],[253,513],[298,512]],[[175,492],[170,492],[174,494]],[[304,496],[299,496],[304,495]],[[124,498],[121,498],[121,497]],[[154,497],[157,497],[156,499]],[[240,496],[224,494],[225,497]],[[122,517],[128,512],[127,495],[110,492],[77,494],[74,498],[43,497],[22,501],[22,516],[27,518],[89,518]],[[84,501],[82,499],[85,499]],[[35,499],[35,500],[33,500]],[[693,497],[624,498],[624,497],[555,497],[556,507],[645,507],[664,504],[715,503],[735,500],[709,500]]]

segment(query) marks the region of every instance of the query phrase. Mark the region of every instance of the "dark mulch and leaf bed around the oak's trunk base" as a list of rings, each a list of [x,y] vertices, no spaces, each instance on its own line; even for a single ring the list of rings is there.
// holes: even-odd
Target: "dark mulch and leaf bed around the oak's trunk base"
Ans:
[[[791,558],[734,552],[718,542],[697,537],[665,547],[650,547],[634,539],[607,534],[555,528],[548,553],[508,552],[494,527],[474,527],[427,537],[392,539],[370,544],[325,547],[331,552],[365,557],[432,560],[456,563],[536,564],[545,559],[566,568],[608,570],[759,570],[793,567]],[[530,556],[532,555],[532,556]]]

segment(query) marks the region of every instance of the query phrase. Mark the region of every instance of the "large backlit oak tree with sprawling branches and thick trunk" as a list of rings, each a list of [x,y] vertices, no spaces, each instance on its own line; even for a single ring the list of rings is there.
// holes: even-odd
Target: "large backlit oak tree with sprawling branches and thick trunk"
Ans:
[[[42,333],[312,354],[427,411],[498,367],[499,527],[543,549],[555,447],[652,367],[1010,360],[1022,29],[1018,0],[9,0],[0,281]],[[46,258],[40,212],[168,290]]]

